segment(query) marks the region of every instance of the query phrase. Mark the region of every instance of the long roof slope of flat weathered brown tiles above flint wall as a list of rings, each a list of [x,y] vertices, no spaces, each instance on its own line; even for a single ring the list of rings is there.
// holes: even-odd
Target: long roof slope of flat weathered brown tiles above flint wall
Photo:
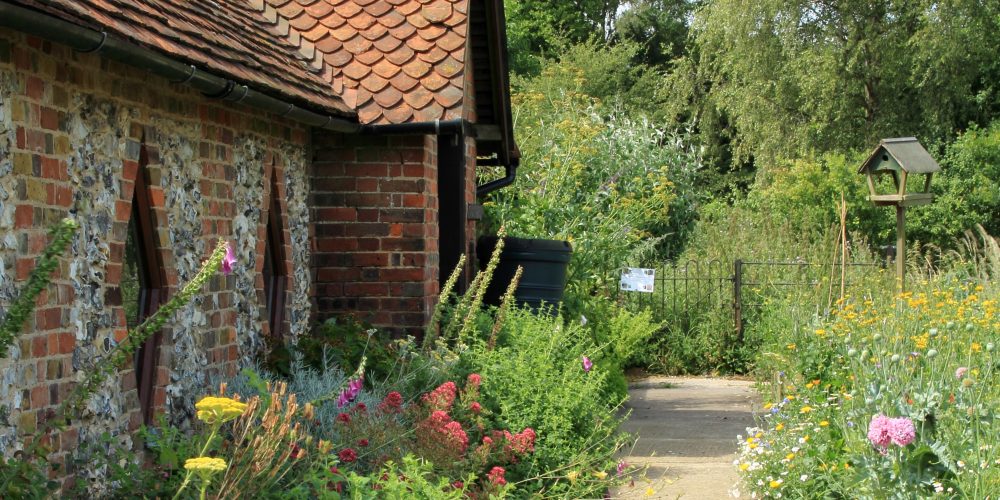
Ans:
[[[338,115],[321,54],[303,47],[300,25],[268,17],[262,0],[20,0],[56,17],[106,30],[262,91]],[[303,2],[316,4],[313,2]],[[359,1],[360,3],[360,1]],[[357,22],[357,21],[355,21]]]

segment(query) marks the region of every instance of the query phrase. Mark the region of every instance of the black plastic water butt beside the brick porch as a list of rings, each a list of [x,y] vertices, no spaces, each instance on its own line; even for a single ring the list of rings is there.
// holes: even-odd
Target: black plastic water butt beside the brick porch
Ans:
[[[479,239],[476,255],[479,258],[480,269],[486,269],[496,244],[496,236],[484,236]],[[524,268],[524,273],[514,292],[516,302],[534,311],[539,310],[543,303],[546,306],[557,306],[562,302],[563,292],[566,289],[566,267],[569,265],[572,253],[573,248],[568,241],[509,236],[504,238],[500,263],[493,273],[493,279],[486,289],[483,301],[499,305],[507,286],[514,279],[517,266],[521,266]]]

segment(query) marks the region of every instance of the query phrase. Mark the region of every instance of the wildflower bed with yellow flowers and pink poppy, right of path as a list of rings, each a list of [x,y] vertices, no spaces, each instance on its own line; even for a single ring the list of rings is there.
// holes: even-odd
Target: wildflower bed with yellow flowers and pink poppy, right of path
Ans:
[[[771,393],[740,437],[751,497],[986,498],[1000,491],[995,285],[844,300],[775,336]]]

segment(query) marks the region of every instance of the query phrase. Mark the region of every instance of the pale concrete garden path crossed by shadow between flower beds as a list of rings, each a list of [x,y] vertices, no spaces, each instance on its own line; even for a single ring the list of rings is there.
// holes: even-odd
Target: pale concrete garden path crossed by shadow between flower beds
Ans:
[[[736,483],[736,435],[753,425],[752,383],[719,378],[652,377],[629,387],[624,430],[639,436],[625,460],[648,464],[616,498],[728,498]]]

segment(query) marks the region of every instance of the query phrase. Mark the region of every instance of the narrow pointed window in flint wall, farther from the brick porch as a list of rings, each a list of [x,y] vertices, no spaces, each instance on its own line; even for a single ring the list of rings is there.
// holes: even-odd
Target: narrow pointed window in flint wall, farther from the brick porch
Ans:
[[[163,266],[153,238],[155,219],[150,210],[145,167],[146,155],[143,151],[132,194],[132,214],[129,217],[122,259],[122,306],[129,331],[156,312],[166,294]],[[159,343],[160,332],[156,332],[146,339],[133,357],[139,408],[143,422],[147,425],[152,423]]]

